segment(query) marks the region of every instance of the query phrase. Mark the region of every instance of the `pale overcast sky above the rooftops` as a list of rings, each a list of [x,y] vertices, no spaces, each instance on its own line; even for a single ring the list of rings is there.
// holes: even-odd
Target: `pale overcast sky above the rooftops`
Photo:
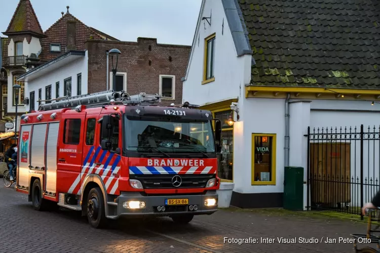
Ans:
[[[5,0],[0,0],[0,2]],[[0,32],[5,32],[18,0],[2,4]],[[42,29],[47,30],[61,12],[123,41],[157,38],[160,44],[191,46],[202,0],[30,0]],[[6,37],[0,33],[0,36]]]

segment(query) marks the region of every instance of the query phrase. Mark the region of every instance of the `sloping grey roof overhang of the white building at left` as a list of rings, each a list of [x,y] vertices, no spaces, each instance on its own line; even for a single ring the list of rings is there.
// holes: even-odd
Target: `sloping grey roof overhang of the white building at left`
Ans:
[[[86,55],[86,51],[82,50],[71,50],[67,51],[66,53],[58,56],[57,58],[54,58],[51,61],[48,61],[36,68],[32,68],[28,72],[26,72],[23,75],[20,75],[17,80],[18,81],[31,81],[35,78],[38,78],[42,75],[45,75],[51,71],[54,71],[58,68],[63,67],[64,65],[73,62],[75,60],[78,60],[81,57],[84,57]]]

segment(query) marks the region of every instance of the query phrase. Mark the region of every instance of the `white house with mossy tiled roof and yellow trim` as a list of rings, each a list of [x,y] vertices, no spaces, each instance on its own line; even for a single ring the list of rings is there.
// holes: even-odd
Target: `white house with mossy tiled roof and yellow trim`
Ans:
[[[303,167],[298,190],[285,190],[286,199],[300,196],[294,197],[298,208],[360,206],[376,192],[380,35],[379,21],[369,16],[380,11],[359,1],[362,14],[351,22],[347,15],[356,4],[323,2],[202,1],[182,78],[183,101],[211,110],[223,122],[218,176],[222,184],[234,183],[232,205],[283,206],[284,184],[295,177],[284,182],[286,166]],[[363,134],[355,135],[361,124]],[[347,135],[330,133],[337,127],[339,134],[340,126]],[[368,126],[375,134],[365,134]],[[313,135],[322,127],[324,135]],[[354,179],[372,185],[361,192]],[[334,187],[339,194],[329,192]]]

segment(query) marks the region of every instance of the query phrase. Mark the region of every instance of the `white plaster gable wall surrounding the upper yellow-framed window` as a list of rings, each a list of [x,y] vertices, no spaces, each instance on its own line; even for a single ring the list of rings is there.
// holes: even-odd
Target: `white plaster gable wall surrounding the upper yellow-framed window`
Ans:
[[[251,67],[251,56],[237,57],[234,41],[221,1],[206,0],[201,17],[209,17],[212,12],[211,26],[206,20],[200,22],[195,35],[195,45],[188,66],[187,79],[183,82],[183,102],[205,104],[223,99],[238,97],[240,87],[244,90],[244,71]],[[222,23],[224,28],[222,34]],[[215,35],[215,81],[202,85],[205,38]],[[199,40],[198,40],[199,38]],[[199,42],[198,42],[199,41]],[[248,60],[247,60],[248,59]],[[248,63],[248,65],[246,65]]]

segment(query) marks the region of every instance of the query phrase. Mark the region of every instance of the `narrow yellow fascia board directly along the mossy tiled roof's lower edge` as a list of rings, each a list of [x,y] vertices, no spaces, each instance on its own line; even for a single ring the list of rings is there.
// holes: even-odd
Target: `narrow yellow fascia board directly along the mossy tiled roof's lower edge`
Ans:
[[[273,86],[246,86],[248,92],[291,92],[291,93],[330,93],[352,95],[380,95],[380,90],[345,89],[345,88],[313,88],[313,87],[273,87]]]

